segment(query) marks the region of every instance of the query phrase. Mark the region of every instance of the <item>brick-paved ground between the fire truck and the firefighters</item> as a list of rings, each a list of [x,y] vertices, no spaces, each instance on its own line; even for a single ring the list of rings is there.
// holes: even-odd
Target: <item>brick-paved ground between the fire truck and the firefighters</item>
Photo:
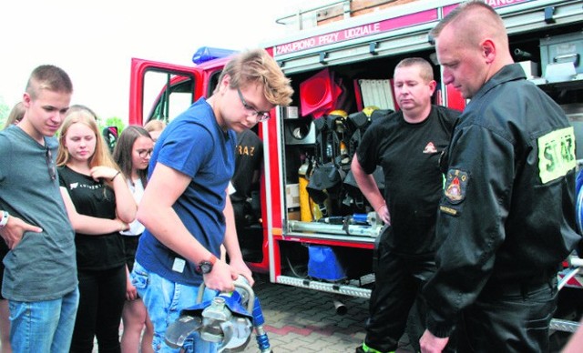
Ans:
[[[347,311],[341,316],[332,294],[272,284],[267,277],[256,277],[253,288],[273,352],[353,352],[363,343],[368,299],[342,297]],[[245,352],[258,352],[252,339]],[[398,352],[413,351],[405,339]]]

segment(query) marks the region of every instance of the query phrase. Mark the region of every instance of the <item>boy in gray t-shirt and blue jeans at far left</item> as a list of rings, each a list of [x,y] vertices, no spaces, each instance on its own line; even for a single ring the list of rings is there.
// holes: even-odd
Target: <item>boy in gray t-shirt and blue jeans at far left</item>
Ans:
[[[31,74],[17,126],[0,132],[0,236],[15,352],[68,351],[78,305],[75,232],[56,177],[56,138],[73,86],[56,66]]]

